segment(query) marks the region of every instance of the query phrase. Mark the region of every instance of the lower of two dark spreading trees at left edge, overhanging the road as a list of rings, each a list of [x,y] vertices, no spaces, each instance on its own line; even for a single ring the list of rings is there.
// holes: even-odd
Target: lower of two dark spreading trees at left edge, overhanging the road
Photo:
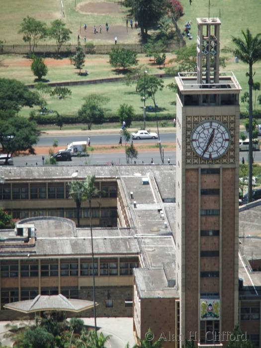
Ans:
[[[25,117],[13,116],[7,120],[0,120],[0,144],[2,151],[8,156],[12,156],[16,151],[27,150],[30,154],[35,154],[33,145],[37,143],[38,135],[36,123]]]

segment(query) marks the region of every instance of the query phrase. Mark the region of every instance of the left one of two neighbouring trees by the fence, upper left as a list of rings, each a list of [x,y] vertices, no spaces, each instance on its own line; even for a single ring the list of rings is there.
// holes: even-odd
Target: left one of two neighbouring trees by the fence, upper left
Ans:
[[[26,18],[23,18],[20,26],[21,28],[18,33],[23,34],[23,41],[28,42],[30,52],[34,52],[34,48],[38,41],[47,37],[47,28],[45,23],[27,16]]]

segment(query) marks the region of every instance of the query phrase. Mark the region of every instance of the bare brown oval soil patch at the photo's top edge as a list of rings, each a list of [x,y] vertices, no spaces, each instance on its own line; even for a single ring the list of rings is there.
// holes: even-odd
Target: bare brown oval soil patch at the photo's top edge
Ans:
[[[80,13],[119,13],[123,12],[122,6],[114,2],[82,2],[77,5]]]

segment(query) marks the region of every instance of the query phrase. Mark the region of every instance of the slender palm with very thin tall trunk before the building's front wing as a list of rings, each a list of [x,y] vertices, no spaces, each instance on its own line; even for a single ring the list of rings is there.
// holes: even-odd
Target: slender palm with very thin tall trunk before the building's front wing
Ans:
[[[93,239],[92,239],[92,226],[91,226],[91,199],[97,195],[98,191],[94,185],[95,175],[89,175],[84,183],[85,197],[89,201],[89,227],[90,227],[90,238],[91,238],[91,259],[92,259],[92,279],[93,279],[93,313],[94,313],[94,328],[97,333],[96,325],[96,307],[95,307],[95,276],[94,276],[94,255],[93,255]]]

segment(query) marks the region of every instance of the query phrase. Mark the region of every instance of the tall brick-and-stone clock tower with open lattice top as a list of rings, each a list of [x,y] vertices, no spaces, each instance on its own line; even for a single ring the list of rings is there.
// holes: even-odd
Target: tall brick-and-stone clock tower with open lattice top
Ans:
[[[218,18],[197,18],[197,70],[176,77],[179,337],[226,346],[238,322],[239,93]]]

